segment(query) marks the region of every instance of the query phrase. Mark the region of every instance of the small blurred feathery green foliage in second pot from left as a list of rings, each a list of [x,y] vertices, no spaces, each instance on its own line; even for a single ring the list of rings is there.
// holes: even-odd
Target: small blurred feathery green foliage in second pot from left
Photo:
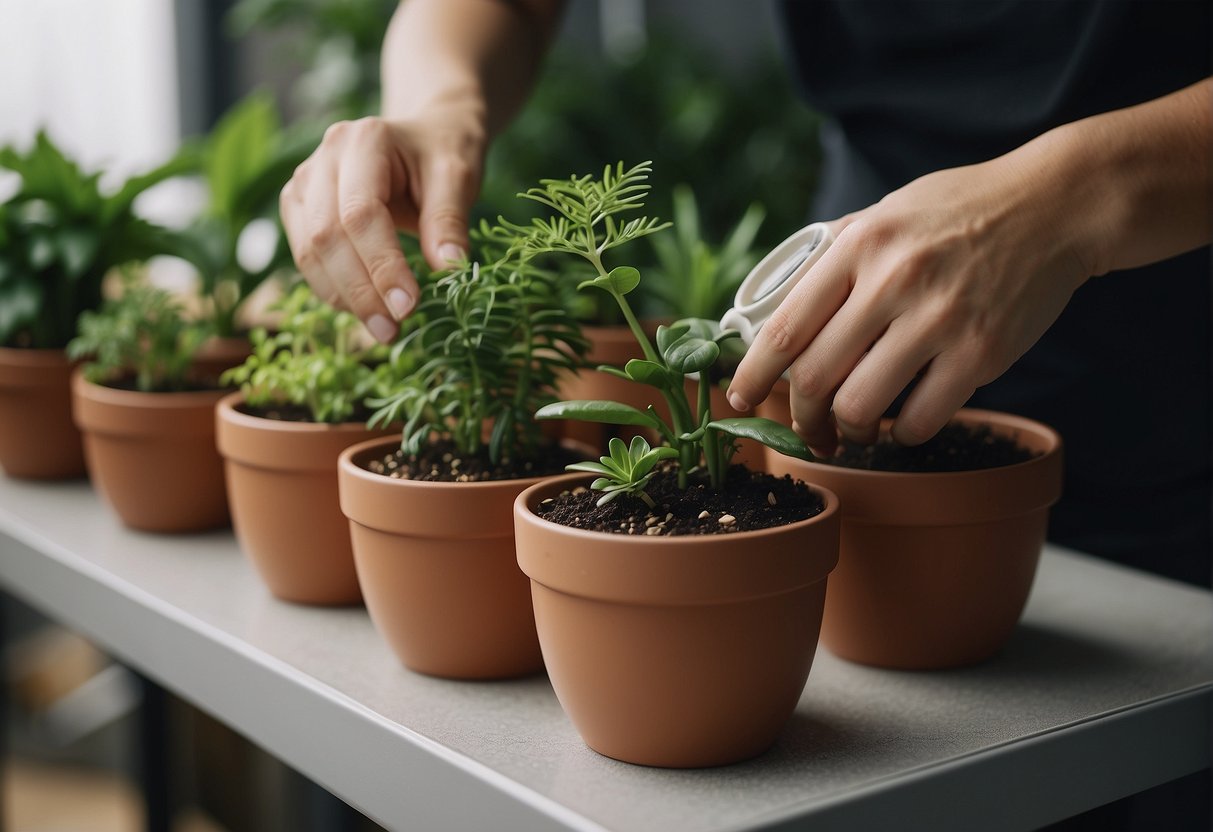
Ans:
[[[101,309],[81,313],[79,326],[67,352],[72,359],[91,359],[85,377],[107,383],[129,374],[146,393],[187,389],[194,354],[210,335],[205,323],[182,318],[171,292],[131,280]]]

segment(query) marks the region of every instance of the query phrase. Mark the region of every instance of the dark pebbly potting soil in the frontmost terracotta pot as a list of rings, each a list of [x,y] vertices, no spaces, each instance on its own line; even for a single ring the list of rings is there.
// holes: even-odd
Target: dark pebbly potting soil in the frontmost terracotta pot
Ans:
[[[718,491],[697,472],[690,479],[689,488],[682,490],[673,471],[659,471],[645,488],[656,508],[630,494],[598,506],[602,492],[582,486],[545,500],[536,513],[574,529],[616,535],[723,535],[787,525],[825,508],[801,480],[740,465],[729,468]]]

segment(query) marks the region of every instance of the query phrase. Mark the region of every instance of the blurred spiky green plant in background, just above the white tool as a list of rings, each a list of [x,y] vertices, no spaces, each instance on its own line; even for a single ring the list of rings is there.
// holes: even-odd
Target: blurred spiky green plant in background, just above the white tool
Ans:
[[[654,269],[654,297],[674,318],[719,319],[733,306],[738,286],[762,250],[754,245],[767,210],[751,203],[724,238],[713,245],[704,239],[699,204],[690,186],[673,193],[673,234],[649,238],[657,263]]]

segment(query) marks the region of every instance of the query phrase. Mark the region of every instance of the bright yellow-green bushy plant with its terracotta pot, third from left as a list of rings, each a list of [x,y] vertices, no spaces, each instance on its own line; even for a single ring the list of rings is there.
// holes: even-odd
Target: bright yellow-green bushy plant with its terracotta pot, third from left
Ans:
[[[252,354],[223,375],[240,392],[216,409],[232,524],[269,591],[302,604],[361,600],[349,528],[337,501],[337,456],[391,428],[366,427],[382,394],[387,347],[306,284],[278,304],[277,332],[251,334]]]

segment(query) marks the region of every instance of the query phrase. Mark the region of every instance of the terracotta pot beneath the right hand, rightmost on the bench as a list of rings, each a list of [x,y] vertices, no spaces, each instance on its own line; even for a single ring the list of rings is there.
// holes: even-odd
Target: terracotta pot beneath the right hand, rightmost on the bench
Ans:
[[[989,424],[1040,456],[983,471],[890,473],[768,451],[771,473],[821,484],[842,501],[821,628],[831,653],[878,667],[957,667],[997,653],[1019,621],[1049,506],[1061,496],[1061,439],[992,411],[962,410],[956,421]]]

